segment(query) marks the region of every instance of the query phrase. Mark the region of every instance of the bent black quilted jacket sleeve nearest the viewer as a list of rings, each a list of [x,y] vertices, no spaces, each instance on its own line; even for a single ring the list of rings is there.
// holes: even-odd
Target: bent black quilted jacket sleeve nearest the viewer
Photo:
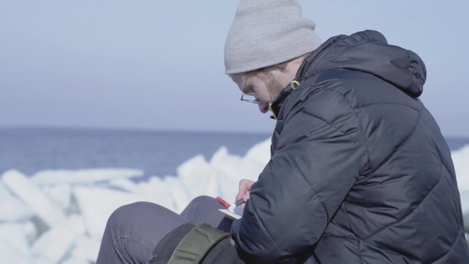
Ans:
[[[311,250],[368,160],[354,112],[298,111],[253,184],[232,237],[249,263],[296,263]]]

